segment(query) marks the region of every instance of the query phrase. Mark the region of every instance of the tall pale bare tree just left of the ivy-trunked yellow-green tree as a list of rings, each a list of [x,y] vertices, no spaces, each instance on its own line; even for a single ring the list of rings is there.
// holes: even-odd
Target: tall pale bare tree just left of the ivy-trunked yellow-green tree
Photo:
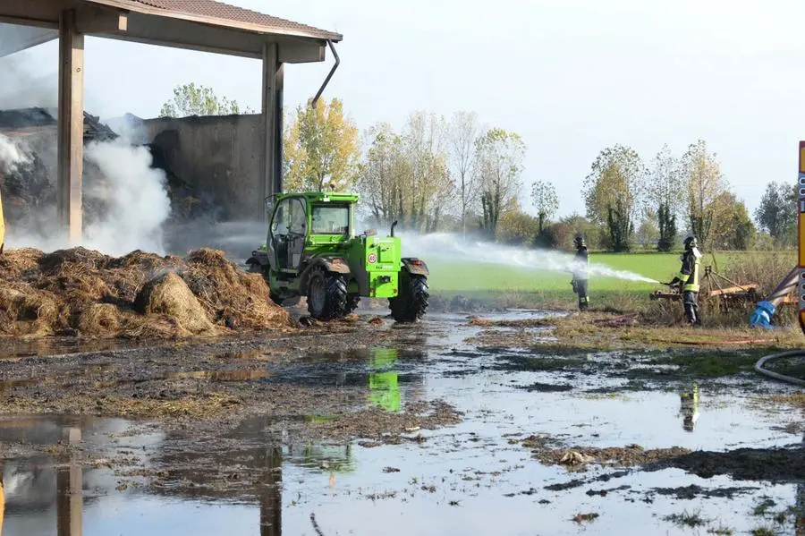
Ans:
[[[475,164],[475,142],[478,140],[479,125],[475,112],[456,112],[450,123],[449,154],[461,199],[460,210],[462,234],[467,233],[467,212],[478,196],[478,182],[473,180]]]

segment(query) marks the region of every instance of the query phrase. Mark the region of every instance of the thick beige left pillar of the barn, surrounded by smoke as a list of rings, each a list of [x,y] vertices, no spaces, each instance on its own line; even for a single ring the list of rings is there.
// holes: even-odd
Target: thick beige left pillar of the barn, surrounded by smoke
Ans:
[[[84,36],[75,11],[59,19],[59,117],[56,203],[71,243],[81,240],[81,174],[84,157]]]

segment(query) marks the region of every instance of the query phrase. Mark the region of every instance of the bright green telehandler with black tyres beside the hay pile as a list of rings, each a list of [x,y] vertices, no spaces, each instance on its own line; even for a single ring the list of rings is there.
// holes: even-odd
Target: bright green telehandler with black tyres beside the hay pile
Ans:
[[[428,309],[428,266],[402,258],[400,237],[356,235],[354,193],[301,192],[275,196],[266,243],[246,260],[280,304],[308,300],[310,316],[343,318],[361,297],[388,298],[397,322],[416,322]]]

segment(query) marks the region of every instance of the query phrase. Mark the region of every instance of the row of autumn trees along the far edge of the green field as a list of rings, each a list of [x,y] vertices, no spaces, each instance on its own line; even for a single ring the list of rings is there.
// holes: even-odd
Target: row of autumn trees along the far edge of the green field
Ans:
[[[177,89],[163,113],[179,114],[184,104],[199,115],[238,113],[237,103],[218,100],[190,85]],[[284,122],[285,189],[358,191],[370,225],[398,221],[419,233],[470,232],[561,248],[583,233],[591,247],[611,251],[671,251],[687,233],[720,250],[796,241],[795,186],[768,183],[753,220],[704,140],[681,155],[665,145],[648,163],[628,146],[601,150],[584,183],[585,213],[557,218],[560,199],[548,180],[527,186],[536,214],[521,208],[526,145],[474,112],[415,111],[400,129],[376,123],[360,132],[338,98],[309,104]]]

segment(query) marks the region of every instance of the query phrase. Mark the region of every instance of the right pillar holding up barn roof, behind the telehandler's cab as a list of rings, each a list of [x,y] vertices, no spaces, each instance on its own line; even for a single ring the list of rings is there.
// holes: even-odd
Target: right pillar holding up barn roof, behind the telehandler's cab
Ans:
[[[275,43],[263,45],[263,154],[260,157],[260,187],[263,199],[259,200],[259,217],[267,221],[265,198],[278,193],[276,170],[282,167],[276,152],[277,136],[277,49]],[[280,135],[282,135],[280,133]]]

